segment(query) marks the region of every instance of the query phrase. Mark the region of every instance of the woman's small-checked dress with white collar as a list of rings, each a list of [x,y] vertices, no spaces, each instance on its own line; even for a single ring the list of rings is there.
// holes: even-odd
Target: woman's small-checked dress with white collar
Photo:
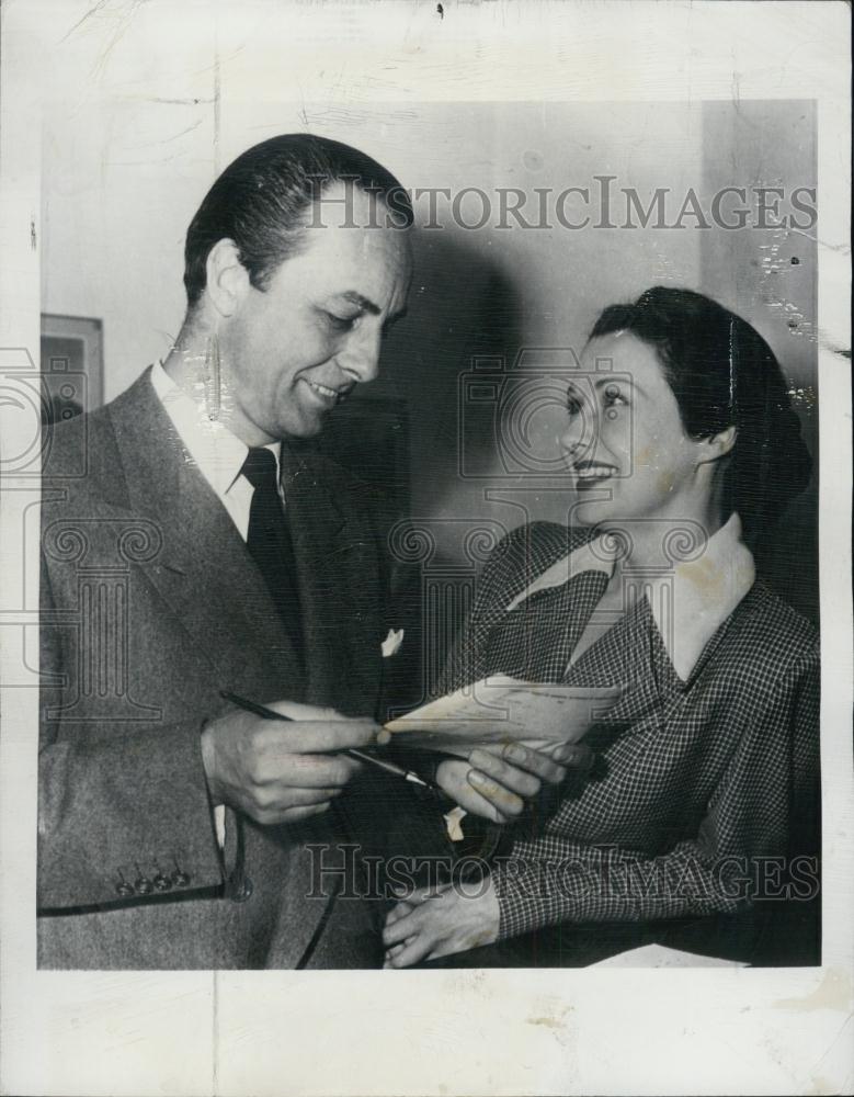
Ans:
[[[449,691],[501,672],[623,688],[585,738],[592,772],[571,774],[508,835],[492,871],[500,938],[562,921],[733,912],[750,902],[759,859],[817,849],[812,626],[758,580],[683,681],[640,598],[567,669],[606,577],[582,572],[506,607],[585,539],[549,523],[506,536],[441,683]]]

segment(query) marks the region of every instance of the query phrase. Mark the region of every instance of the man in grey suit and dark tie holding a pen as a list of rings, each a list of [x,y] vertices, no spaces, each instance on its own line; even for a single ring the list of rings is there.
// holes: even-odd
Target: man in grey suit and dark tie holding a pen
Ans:
[[[167,359],[48,439],[41,966],[382,960],[367,907],[318,889],[308,847],[340,844],[332,805],[361,765],[342,751],[377,742],[384,539],[364,486],[300,443],[376,376],[411,219],[355,149],[244,152],[187,231]],[[492,818],[565,776],[533,753],[470,761],[437,780]]]

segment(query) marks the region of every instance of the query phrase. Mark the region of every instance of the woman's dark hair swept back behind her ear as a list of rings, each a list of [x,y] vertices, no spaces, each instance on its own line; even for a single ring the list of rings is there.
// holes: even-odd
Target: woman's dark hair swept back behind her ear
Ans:
[[[812,467],[774,352],[747,320],[691,290],[654,286],[631,305],[612,305],[590,338],[615,331],[656,349],[687,434],[737,428],[725,459],[725,506],[754,543],[804,490]]]

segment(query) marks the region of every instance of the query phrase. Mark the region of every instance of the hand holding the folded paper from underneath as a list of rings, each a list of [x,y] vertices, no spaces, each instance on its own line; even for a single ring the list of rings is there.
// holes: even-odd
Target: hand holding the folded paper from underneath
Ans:
[[[511,743],[496,748],[478,748],[468,761],[443,761],[436,783],[443,792],[472,815],[493,823],[509,823],[519,816],[526,800],[533,800],[547,784],[560,784],[567,768],[589,769],[593,754],[581,744],[562,744],[551,754]]]

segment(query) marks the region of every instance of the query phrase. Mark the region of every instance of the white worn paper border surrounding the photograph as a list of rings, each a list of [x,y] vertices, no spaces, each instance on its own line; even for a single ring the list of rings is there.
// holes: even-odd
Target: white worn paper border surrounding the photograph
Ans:
[[[99,94],[134,3],[7,3],[0,69],[0,352],[37,363],[38,108],[57,58]],[[850,9],[835,2],[144,5],[200,65],[269,20],[246,94],[379,101],[811,99],[819,145],[822,630],[820,969],[37,972],[34,689],[3,645],[0,1092],[94,1095],[845,1093],[854,1079],[851,634]],[[78,24],[77,36],[64,37]],[[212,30],[213,29],[213,30]],[[477,50],[475,50],[477,46]],[[634,47],[634,48],[633,48]],[[59,56],[61,54],[61,56]],[[143,64],[143,61],[140,61]],[[246,59],[244,59],[246,64]],[[384,78],[377,79],[383,72]],[[128,77],[130,82],[130,77]],[[261,90],[263,89],[263,90]],[[221,167],[223,165],[220,165]],[[20,420],[1,407],[5,452]],[[16,433],[18,432],[18,433]],[[838,474],[836,471],[840,471]],[[30,488],[4,485],[3,624],[29,621]],[[29,554],[29,556],[25,556]],[[32,627],[27,626],[27,633]],[[31,638],[31,637],[30,637]],[[27,644],[30,643],[27,640]],[[27,648],[29,651],[29,648]]]

